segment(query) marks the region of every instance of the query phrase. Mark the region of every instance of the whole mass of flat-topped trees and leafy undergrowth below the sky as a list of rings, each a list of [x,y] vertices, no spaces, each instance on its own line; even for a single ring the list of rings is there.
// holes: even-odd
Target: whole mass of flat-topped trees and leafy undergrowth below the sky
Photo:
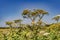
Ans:
[[[60,40],[60,22],[58,22],[60,16],[53,18],[57,23],[48,25],[42,21],[46,14],[48,14],[47,11],[40,9],[24,10],[23,18],[31,19],[32,24],[22,24],[21,19],[8,21],[6,22],[6,25],[9,25],[7,30],[0,29],[0,40]],[[35,22],[36,20],[38,21]]]

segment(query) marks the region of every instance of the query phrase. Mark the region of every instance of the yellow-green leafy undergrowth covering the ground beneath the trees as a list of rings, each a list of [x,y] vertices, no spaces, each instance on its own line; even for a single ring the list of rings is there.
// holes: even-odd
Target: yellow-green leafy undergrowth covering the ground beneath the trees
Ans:
[[[30,28],[32,27],[32,28]],[[13,28],[7,34],[0,32],[1,40],[60,40],[60,24],[52,24],[50,27],[26,26]],[[12,31],[12,32],[11,32]]]

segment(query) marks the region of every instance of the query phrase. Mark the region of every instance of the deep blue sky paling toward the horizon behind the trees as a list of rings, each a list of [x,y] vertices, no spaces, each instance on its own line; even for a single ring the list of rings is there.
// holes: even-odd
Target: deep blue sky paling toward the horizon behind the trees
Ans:
[[[55,22],[52,17],[60,14],[60,0],[0,0],[0,26],[5,26],[6,21],[23,19],[24,9],[43,9],[49,12],[44,16],[43,21],[47,23]],[[30,20],[24,19],[23,23]]]

